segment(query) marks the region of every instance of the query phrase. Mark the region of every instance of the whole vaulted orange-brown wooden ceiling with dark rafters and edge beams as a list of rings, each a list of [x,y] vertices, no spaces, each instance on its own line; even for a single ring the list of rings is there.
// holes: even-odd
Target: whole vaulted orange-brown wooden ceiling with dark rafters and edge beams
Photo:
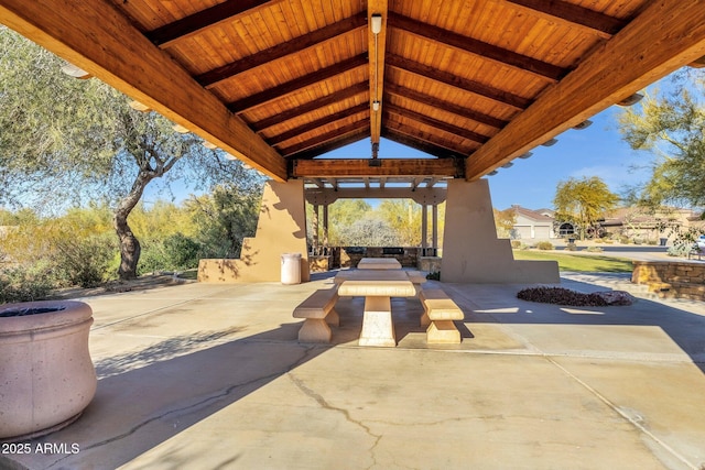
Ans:
[[[0,0],[0,22],[279,181],[473,181],[705,56],[702,0]],[[429,159],[370,164],[380,138]]]

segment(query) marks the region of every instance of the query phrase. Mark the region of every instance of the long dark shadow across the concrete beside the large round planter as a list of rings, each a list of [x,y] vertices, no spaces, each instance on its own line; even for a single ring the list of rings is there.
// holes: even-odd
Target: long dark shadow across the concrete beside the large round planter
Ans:
[[[30,441],[32,448],[75,442],[80,451],[34,453],[28,461],[17,456],[17,461],[32,470],[82,468],[86,461],[118,468],[329,349],[300,345],[299,327],[284,324],[199,350],[235,331],[195,334],[99,361],[102,378],[83,416],[73,426]]]

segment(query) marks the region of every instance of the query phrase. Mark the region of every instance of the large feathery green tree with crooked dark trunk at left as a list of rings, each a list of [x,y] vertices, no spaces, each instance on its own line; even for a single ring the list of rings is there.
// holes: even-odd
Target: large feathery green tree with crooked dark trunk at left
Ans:
[[[47,208],[104,199],[113,208],[120,278],[137,276],[140,242],[128,217],[153,181],[194,189],[259,185],[193,134],[97,79],[59,72],[64,62],[0,26],[0,205]]]

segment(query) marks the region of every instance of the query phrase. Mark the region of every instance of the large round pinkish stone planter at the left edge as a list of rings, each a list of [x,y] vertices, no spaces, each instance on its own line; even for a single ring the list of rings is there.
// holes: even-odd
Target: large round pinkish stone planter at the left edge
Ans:
[[[93,310],[74,300],[0,305],[0,440],[73,423],[96,393]]]

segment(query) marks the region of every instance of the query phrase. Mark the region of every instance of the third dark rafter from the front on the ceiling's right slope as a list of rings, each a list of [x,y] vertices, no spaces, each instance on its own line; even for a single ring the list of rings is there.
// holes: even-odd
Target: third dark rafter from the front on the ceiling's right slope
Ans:
[[[480,84],[479,81],[458,77],[457,75],[453,75],[447,72],[438,70],[430,65],[419,64],[400,55],[387,54],[387,65],[409,72],[410,74],[419,75],[424,79],[435,80],[451,87],[459,88],[464,91],[484,96],[485,98],[489,98],[502,105],[511,106],[518,110],[523,110],[531,105],[531,99],[529,98],[524,98],[499,88],[494,88]]]

